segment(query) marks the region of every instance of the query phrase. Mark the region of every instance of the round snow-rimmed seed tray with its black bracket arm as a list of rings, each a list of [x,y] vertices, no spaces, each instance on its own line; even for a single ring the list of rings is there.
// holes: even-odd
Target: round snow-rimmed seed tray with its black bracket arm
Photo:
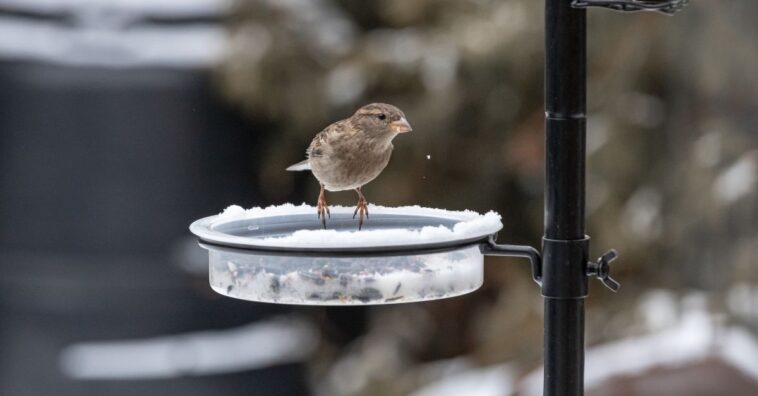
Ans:
[[[243,300],[305,305],[426,301],[476,290],[483,255],[539,259],[530,247],[495,245],[494,212],[370,206],[358,231],[353,208],[230,207],[192,223],[208,250],[211,287]]]

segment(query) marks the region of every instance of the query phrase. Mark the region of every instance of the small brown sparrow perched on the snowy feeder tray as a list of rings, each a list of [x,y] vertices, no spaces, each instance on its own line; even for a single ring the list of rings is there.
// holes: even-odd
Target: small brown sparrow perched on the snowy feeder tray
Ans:
[[[330,215],[324,190],[355,190],[358,193],[353,218],[358,229],[363,216],[368,219],[368,202],[361,188],[374,180],[387,166],[392,154],[392,139],[410,132],[411,125],[400,109],[385,103],[361,107],[350,118],[324,128],[305,151],[307,159],[287,168],[288,171],[310,170],[321,184],[318,195],[318,217],[326,228]]]

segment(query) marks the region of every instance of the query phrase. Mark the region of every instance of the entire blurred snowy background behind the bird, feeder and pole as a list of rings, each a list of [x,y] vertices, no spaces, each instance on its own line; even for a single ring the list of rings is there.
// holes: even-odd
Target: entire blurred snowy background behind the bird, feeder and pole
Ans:
[[[758,394],[756,17],[589,12],[587,230],[623,286],[591,286],[588,395]],[[543,41],[532,0],[0,0],[0,394],[541,394],[520,260],[450,300],[293,308],[215,295],[187,226],[313,203],[284,168],[382,101],[414,133],[372,202],[539,245]]]

